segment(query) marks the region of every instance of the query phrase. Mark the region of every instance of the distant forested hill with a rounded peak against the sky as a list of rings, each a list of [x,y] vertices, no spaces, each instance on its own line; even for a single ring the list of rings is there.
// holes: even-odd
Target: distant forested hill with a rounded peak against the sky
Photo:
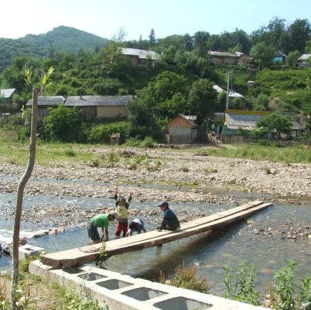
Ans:
[[[51,56],[54,52],[91,50],[106,46],[108,39],[75,28],[59,26],[41,35],[26,35],[19,39],[0,38],[0,72],[12,64],[12,58],[20,55]]]

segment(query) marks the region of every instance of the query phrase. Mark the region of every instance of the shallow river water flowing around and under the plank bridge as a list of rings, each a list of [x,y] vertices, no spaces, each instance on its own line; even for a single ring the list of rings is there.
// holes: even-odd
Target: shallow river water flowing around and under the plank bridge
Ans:
[[[243,195],[240,193],[240,195]],[[0,208],[15,204],[13,194],[0,193]],[[75,208],[96,209],[102,206],[113,206],[113,200],[91,197],[60,197],[52,195],[26,195],[23,208],[31,208],[33,204],[52,204],[53,206],[74,206]],[[131,209],[154,209],[156,202],[131,203]],[[189,215],[204,213],[210,215],[232,206],[225,204],[180,203],[172,204],[171,208],[178,214]],[[142,217],[147,230],[156,228],[159,216]],[[131,220],[131,218],[130,218]],[[225,287],[222,284],[224,272],[222,267],[228,264],[236,273],[238,264],[247,260],[256,265],[256,288],[261,295],[267,293],[267,285],[272,280],[275,271],[285,266],[286,260],[294,260],[296,278],[310,274],[311,269],[311,239],[303,238],[289,240],[280,235],[270,235],[270,230],[290,229],[294,227],[308,227],[311,224],[310,204],[274,204],[265,211],[249,217],[254,224],[248,225],[245,220],[218,231],[214,235],[202,233],[178,242],[164,244],[162,247],[144,249],[123,255],[117,255],[108,260],[106,268],[112,271],[126,273],[134,277],[157,281],[160,271],[164,275],[174,273],[180,264],[196,264],[198,275],[207,278],[211,286],[211,293],[223,295]],[[28,244],[42,246],[46,251],[61,251],[88,244],[86,227],[68,227],[66,231],[57,235],[46,235],[41,238],[31,238],[39,229],[46,229],[44,219],[41,226],[30,222],[23,222],[21,235],[28,236]],[[0,219],[0,243],[5,244],[12,239],[12,220],[8,217]],[[113,235],[115,223],[109,226]],[[10,258],[2,255],[0,269],[10,269]]]

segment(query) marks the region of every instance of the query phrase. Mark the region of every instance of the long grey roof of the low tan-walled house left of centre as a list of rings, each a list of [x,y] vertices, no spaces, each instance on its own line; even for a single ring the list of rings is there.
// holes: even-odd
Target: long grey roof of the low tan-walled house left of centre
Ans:
[[[132,95],[126,96],[70,96],[65,106],[126,106],[135,100]]]

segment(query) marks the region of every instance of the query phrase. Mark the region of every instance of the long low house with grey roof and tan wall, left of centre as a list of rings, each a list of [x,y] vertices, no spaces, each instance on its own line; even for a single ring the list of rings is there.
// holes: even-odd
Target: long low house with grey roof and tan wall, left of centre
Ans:
[[[86,119],[127,117],[129,111],[126,107],[129,102],[135,100],[133,95],[125,96],[70,96],[66,99],[65,106],[77,106],[82,110],[82,116]]]

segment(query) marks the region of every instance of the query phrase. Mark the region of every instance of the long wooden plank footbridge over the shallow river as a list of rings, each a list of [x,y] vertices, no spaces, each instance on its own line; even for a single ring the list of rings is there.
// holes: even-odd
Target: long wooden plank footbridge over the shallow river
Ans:
[[[227,211],[182,223],[179,231],[149,231],[147,233],[133,235],[129,238],[111,240],[106,242],[106,253],[109,256],[112,256],[142,250],[171,242],[173,240],[196,235],[198,233],[203,233],[205,231],[218,229],[241,220],[244,217],[248,217],[257,211],[261,211],[271,204],[272,203],[263,204],[262,201],[256,200]],[[74,267],[96,260],[99,257],[101,247],[102,244],[99,243],[90,246],[83,246],[77,249],[50,253],[42,255],[41,262],[55,268]]]

